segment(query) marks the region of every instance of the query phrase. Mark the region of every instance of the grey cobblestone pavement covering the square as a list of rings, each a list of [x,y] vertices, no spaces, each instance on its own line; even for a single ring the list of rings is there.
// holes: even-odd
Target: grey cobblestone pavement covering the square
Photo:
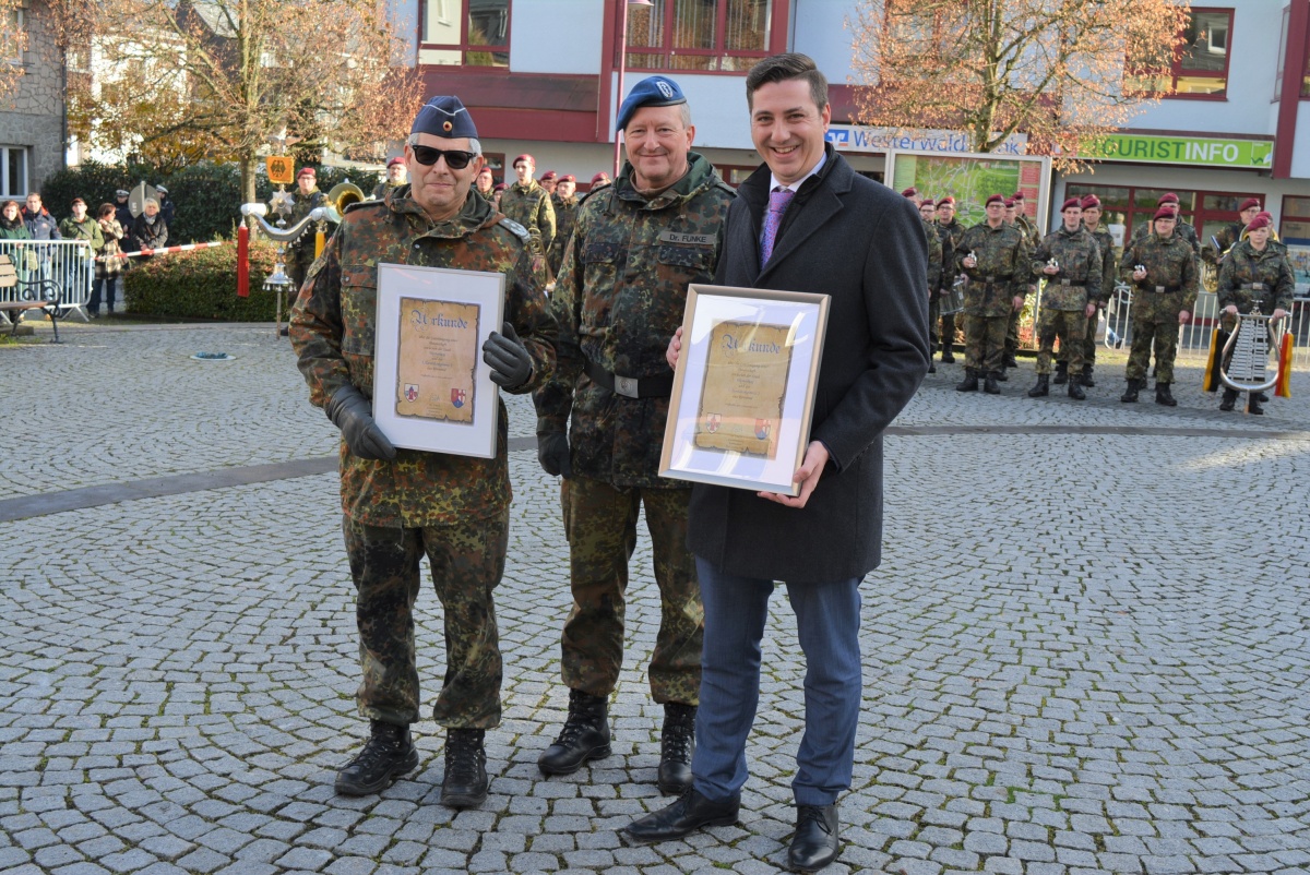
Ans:
[[[0,348],[0,500],[334,452],[267,327],[60,331]],[[200,350],[237,359],[187,358]],[[1310,871],[1310,379],[1258,419],[1217,411],[1197,364],[1172,410],[1119,403],[1121,358],[1082,403],[1024,397],[1031,360],[1001,397],[955,393],[959,365],[927,379],[887,439],[865,715],[828,871]],[[531,403],[510,410],[531,436]],[[0,872],[777,871],[803,726],[785,596],[740,824],[629,846],[617,829],[664,803],[648,542],[614,753],[544,778],[566,707],[566,549],[555,481],[529,449],[511,472],[506,719],[487,735],[491,796],[465,812],[436,802],[430,722],[418,772],[333,795],[364,732],[334,474],[0,523]],[[432,692],[430,592],[419,624]]]

